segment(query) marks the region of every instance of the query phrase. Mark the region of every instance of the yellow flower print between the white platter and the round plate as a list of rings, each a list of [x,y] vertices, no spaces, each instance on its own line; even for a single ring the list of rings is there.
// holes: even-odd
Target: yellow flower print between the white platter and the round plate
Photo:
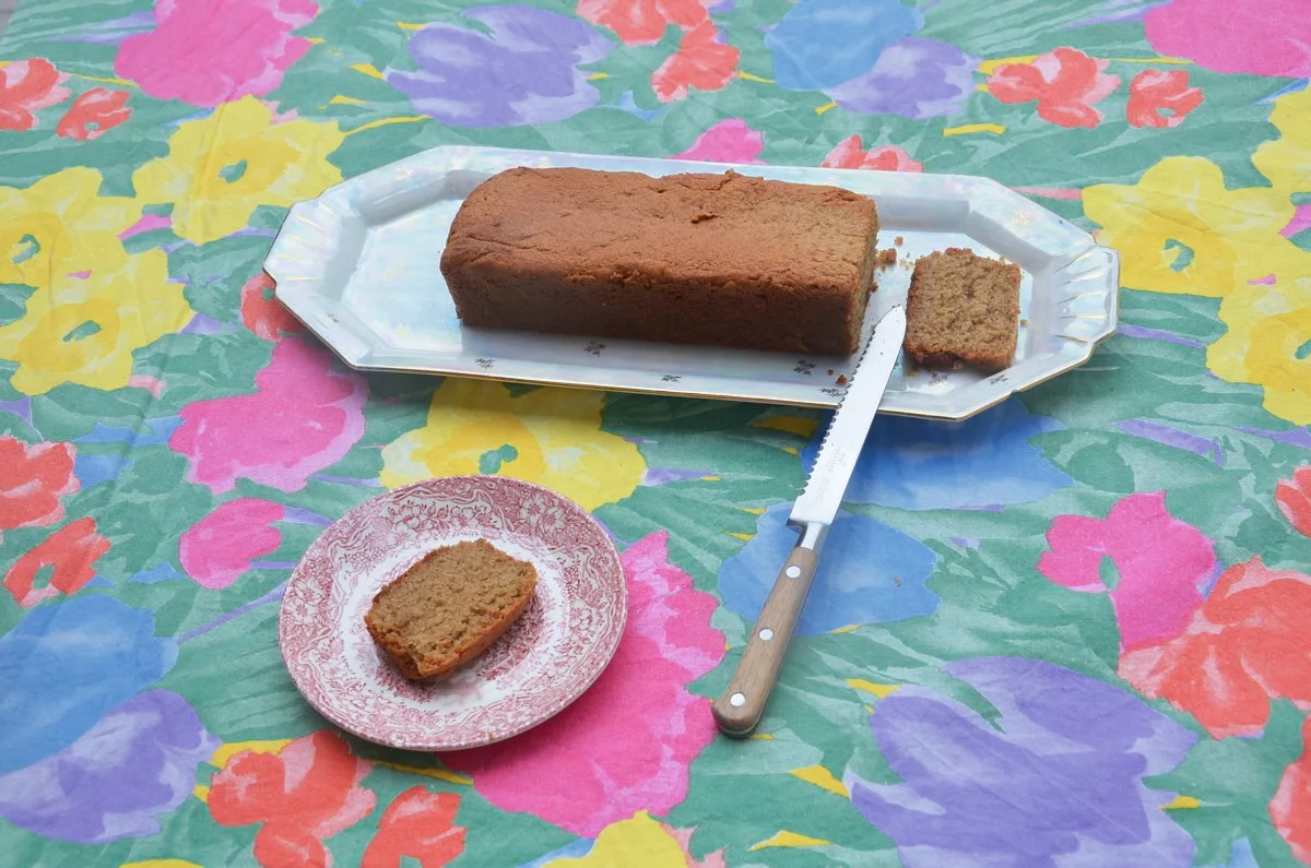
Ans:
[[[511,397],[501,383],[448,379],[427,425],[383,450],[388,488],[431,476],[497,473],[538,483],[593,510],[633,493],[646,472],[637,447],[600,430],[604,395],[543,388]]]

